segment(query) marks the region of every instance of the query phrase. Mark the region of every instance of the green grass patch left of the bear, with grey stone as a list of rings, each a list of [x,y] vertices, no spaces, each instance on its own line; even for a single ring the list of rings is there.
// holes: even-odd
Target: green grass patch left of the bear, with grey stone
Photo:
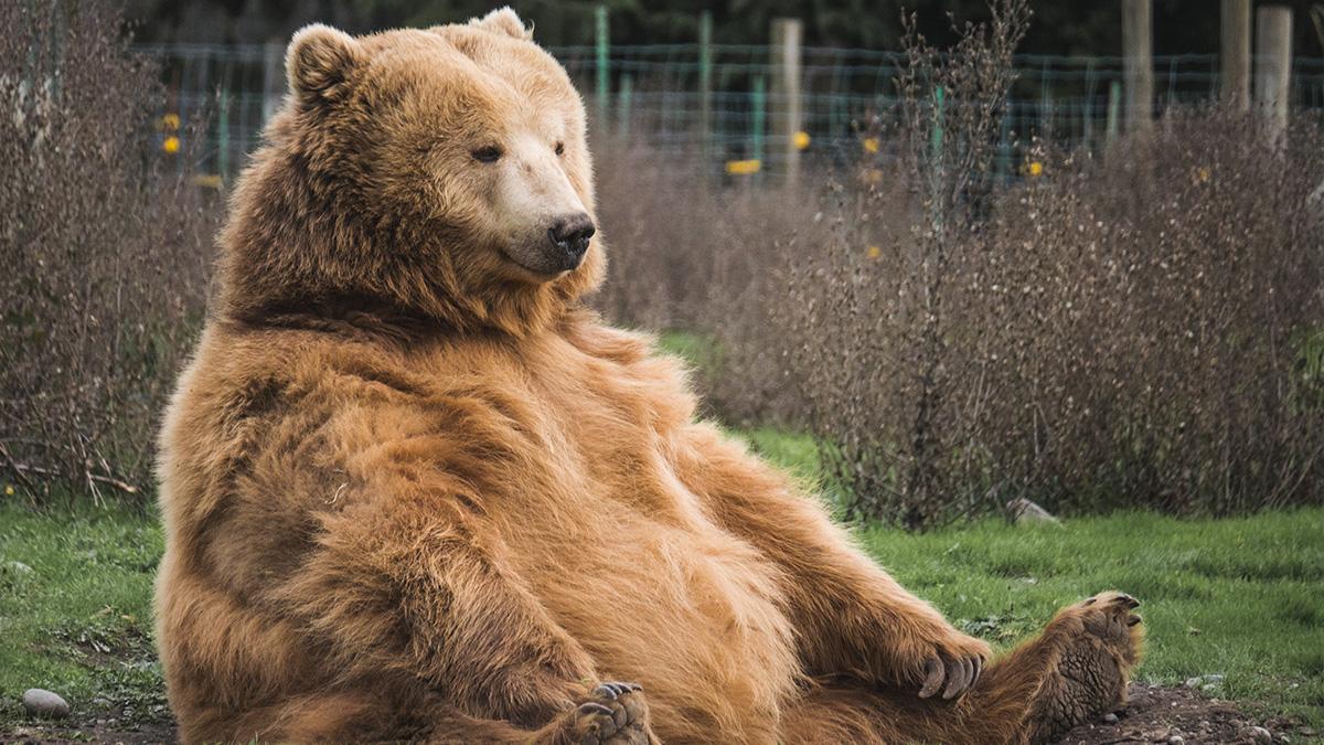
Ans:
[[[151,610],[162,546],[155,517],[0,505],[0,722],[21,716],[28,688],[81,713],[164,716]]]

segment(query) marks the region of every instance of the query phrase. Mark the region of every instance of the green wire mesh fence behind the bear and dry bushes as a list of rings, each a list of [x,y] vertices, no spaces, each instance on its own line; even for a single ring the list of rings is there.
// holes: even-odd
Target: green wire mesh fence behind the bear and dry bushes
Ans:
[[[283,46],[142,46],[162,69],[168,97],[159,138],[167,151],[187,137],[179,122],[205,125],[201,170],[208,183],[233,178],[257,146],[267,117],[285,95]],[[798,133],[773,135],[769,115],[786,106],[769,90],[772,48],[765,45],[634,45],[606,50],[592,45],[548,49],[585,94],[594,135],[646,144],[681,163],[715,171],[779,171],[789,143],[808,158],[835,159],[876,148],[865,137],[896,103],[903,53],[802,48]],[[605,61],[605,65],[600,64]],[[1063,147],[1099,147],[1117,131],[1121,57],[1014,58],[1017,82],[1006,103],[1001,148],[1038,137]],[[1155,57],[1155,107],[1198,105],[1218,98],[1214,54]],[[1324,60],[1296,58],[1291,103],[1324,109]],[[871,151],[871,150],[870,150]],[[702,158],[696,159],[695,155]],[[685,158],[678,158],[683,155]],[[1010,158],[1001,159],[1002,168]],[[732,168],[735,164],[735,168]]]

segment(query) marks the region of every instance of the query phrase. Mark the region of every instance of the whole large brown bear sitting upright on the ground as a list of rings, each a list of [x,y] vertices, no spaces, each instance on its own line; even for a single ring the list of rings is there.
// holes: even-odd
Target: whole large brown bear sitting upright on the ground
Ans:
[[[514,12],[308,27],[287,69],[162,436],[183,740],[1043,742],[1120,705],[1135,601],[989,663],[585,309],[584,106]]]

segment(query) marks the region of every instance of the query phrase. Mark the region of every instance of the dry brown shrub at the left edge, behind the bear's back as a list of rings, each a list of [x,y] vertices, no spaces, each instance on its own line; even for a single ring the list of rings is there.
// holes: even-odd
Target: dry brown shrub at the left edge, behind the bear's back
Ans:
[[[150,493],[200,326],[214,211],[164,163],[162,90],[102,4],[0,4],[0,473]]]

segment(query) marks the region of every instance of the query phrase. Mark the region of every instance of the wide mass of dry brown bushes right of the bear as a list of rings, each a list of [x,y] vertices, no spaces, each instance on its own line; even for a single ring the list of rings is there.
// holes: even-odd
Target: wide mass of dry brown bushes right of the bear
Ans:
[[[1274,147],[1254,115],[1172,110],[1099,156],[1027,143],[1043,172],[994,186],[1025,23],[998,9],[953,54],[914,40],[876,133],[902,155],[862,164],[884,186],[731,196],[625,168],[646,186],[618,186],[625,212],[605,198],[630,225],[612,314],[708,334],[716,412],[814,432],[855,517],[1324,501],[1317,122]]]

